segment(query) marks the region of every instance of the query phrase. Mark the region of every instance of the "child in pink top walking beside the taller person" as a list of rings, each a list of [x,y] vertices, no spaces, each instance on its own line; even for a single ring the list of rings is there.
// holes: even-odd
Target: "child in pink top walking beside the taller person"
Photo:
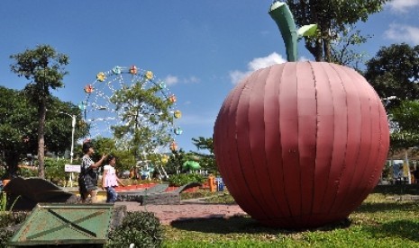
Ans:
[[[118,194],[115,191],[115,187],[118,186],[118,182],[123,185],[123,182],[116,175],[115,164],[116,157],[108,155],[108,164],[104,166],[104,176],[102,177],[102,189],[106,190],[106,203],[114,203],[116,201]]]

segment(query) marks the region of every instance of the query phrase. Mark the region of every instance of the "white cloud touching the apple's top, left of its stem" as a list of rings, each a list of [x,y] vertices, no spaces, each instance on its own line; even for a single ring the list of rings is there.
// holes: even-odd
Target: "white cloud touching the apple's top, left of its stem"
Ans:
[[[272,65],[276,64],[282,64],[287,62],[287,59],[282,58],[282,56],[278,55],[278,53],[273,52],[269,54],[267,57],[262,58],[253,58],[248,63],[248,70],[247,71],[239,71],[234,70],[230,72],[230,79],[232,81],[232,84],[239,84],[239,82],[246,77],[247,75],[250,75],[252,72],[257,71],[262,68],[266,68]]]

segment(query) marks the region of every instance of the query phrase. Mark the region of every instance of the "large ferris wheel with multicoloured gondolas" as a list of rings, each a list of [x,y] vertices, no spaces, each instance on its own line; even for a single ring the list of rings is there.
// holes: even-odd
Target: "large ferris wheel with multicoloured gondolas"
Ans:
[[[149,148],[176,150],[176,136],[183,130],[175,125],[182,115],[176,95],[149,70],[137,66],[114,66],[99,72],[84,87],[85,100],[78,104],[89,127],[89,137],[112,137],[119,146],[129,146],[141,133]],[[141,132],[139,131],[141,130]]]

